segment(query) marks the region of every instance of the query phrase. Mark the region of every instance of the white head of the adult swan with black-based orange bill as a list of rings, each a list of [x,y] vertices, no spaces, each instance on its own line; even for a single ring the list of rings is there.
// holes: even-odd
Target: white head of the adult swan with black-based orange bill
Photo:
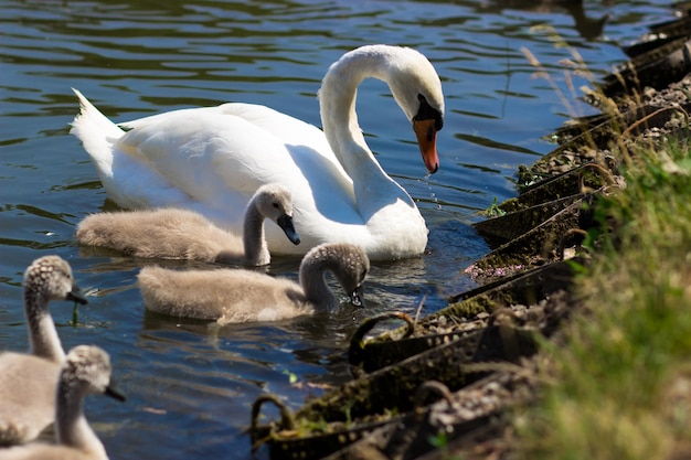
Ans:
[[[427,171],[439,169],[437,131],[444,126],[442,82],[432,63],[410,47],[393,47],[387,82],[394,99],[413,122],[417,145]]]

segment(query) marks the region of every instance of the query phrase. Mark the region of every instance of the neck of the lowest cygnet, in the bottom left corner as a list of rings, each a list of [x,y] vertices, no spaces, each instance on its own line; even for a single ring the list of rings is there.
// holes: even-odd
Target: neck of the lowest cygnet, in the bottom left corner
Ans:
[[[93,458],[107,458],[106,449],[89,427],[84,416],[84,395],[61,378],[57,384],[55,435],[63,446],[96,453]]]

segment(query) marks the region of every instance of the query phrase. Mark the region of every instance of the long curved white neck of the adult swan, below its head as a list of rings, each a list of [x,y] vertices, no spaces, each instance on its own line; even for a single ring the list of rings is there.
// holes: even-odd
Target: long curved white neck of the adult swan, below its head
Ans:
[[[384,53],[349,53],[331,65],[319,89],[323,132],[331,150],[351,178],[375,175],[390,179],[368,147],[355,114],[358,86],[368,77],[387,82],[387,55]]]

